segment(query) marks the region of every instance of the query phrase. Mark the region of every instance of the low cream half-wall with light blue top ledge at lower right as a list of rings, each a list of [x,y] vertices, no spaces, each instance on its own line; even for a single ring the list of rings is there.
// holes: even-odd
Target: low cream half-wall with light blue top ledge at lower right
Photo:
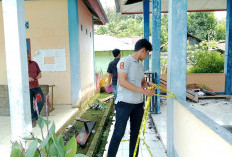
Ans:
[[[174,100],[174,147],[179,157],[231,157],[231,133]],[[230,141],[230,142],[228,142]]]

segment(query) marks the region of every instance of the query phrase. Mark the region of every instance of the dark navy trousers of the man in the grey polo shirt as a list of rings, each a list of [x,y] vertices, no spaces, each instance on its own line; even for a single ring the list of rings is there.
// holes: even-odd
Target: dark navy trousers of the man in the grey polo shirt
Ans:
[[[129,104],[125,102],[118,102],[116,108],[116,123],[114,126],[113,136],[110,141],[108,157],[115,157],[118,151],[119,144],[124,136],[126,124],[130,117],[130,146],[129,157],[133,157],[134,149],[139,134],[140,125],[143,118],[144,103]],[[138,156],[137,149],[137,155]]]

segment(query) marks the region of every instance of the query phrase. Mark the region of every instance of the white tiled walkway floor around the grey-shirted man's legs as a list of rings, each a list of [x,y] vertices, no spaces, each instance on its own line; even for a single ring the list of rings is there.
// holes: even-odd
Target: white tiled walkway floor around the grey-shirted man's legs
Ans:
[[[128,122],[127,128],[125,131],[125,135],[123,139],[129,139],[129,133],[130,133],[130,124]],[[108,143],[106,145],[106,151],[103,155],[103,157],[106,157],[109,142],[113,134],[114,124],[111,126],[111,131],[108,137]],[[155,133],[154,127],[152,126],[151,119],[148,119],[146,132],[145,132],[145,142],[150,147],[150,151],[152,156],[150,155],[147,146],[143,144],[144,137],[141,137],[140,140],[140,148],[139,148],[139,155],[138,157],[167,157],[164,147],[161,143],[161,141],[157,138],[157,134]],[[119,150],[117,153],[117,157],[128,157],[129,156],[129,141],[123,141],[120,143]]]

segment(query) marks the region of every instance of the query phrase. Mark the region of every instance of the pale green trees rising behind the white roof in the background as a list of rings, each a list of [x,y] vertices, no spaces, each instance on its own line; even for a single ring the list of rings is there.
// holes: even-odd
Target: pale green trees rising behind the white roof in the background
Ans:
[[[113,8],[105,9],[106,16],[109,20],[104,26],[98,26],[95,33],[98,35],[108,34],[115,37],[133,37],[143,36],[143,15],[122,15],[117,13]],[[168,40],[168,16],[161,16],[161,44],[167,43]],[[150,19],[150,28],[152,22]],[[150,35],[152,30],[150,29]]]

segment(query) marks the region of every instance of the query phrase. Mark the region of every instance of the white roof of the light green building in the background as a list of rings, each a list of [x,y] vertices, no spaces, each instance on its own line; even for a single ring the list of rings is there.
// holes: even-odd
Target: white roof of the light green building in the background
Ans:
[[[109,35],[94,35],[94,51],[112,51],[113,49],[134,50],[134,45],[128,39],[111,37]]]

